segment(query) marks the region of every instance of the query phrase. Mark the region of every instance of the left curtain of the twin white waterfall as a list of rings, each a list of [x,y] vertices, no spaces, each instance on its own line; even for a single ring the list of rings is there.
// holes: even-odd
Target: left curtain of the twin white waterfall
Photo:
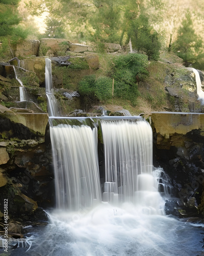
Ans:
[[[60,124],[50,127],[50,137],[57,207],[79,210],[100,202],[97,129]]]

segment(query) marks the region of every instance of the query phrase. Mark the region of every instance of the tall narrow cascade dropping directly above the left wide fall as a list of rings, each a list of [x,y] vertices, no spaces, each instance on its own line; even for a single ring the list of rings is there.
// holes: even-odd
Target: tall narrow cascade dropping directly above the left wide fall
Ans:
[[[49,116],[59,116],[58,102],[53,94],[52,61],[45,58],[45,91]]]

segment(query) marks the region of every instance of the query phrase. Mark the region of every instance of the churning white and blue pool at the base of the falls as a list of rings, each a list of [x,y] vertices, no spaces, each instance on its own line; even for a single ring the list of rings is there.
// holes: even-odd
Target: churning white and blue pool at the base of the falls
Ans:
[[[204,255],[202,224],[145,215],[132,204],[102,203],[87,211],[53,211],[49,224],[31,228],[31,248],[11,256],[197,256]]]

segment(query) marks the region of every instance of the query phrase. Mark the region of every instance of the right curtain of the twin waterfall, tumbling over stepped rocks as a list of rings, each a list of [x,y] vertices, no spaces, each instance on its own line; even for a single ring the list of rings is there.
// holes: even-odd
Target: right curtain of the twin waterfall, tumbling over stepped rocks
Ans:
[[[160,195],[158,182],[152,176],[152,130],[148,122],[101,121],[101,129],[105,155],[103,200],[113,204],[134,202],[149,214],[159,213]]]

